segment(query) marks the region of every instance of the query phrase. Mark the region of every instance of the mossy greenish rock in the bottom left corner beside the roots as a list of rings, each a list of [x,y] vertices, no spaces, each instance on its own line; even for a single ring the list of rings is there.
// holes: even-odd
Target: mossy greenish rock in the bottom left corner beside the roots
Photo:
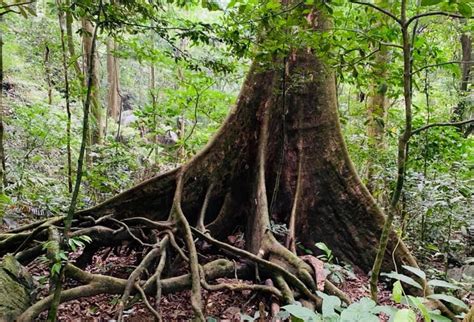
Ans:
[[[14,321],[33,302],[33,279],[12,255],[0,263],[0,321]]]

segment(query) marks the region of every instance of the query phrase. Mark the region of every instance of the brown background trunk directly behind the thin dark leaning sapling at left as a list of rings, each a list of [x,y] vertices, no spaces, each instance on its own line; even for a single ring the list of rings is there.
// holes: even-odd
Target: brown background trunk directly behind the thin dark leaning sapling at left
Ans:
[[[82,20],[82,28],[84,34],[82,41],[84,44],[84,57],[86,60],[86,70],[92,71],[92,108],[91,108],[91,144],[100,144],[103,137],[103,116],[102,106],[99,100],[99,57],[97,52],[94,53],[94,59],[92,60],[93,66],[90,67],[90,53],[92,48],[92,33],[94,32],[94,26],[89,20]],[[85,74],[85,73],[84,73]]]

